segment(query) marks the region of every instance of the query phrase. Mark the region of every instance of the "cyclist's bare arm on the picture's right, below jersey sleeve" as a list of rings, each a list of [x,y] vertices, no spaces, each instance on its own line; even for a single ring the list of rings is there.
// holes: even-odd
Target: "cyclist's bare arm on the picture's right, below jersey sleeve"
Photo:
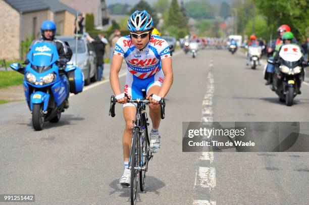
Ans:
[[[160,97],[165,97],[165,95],[170,90],[173,84],[173,68],[172,68],[172,58],[162,59],[162,71],[164,73],[164,81],[159,92]]]

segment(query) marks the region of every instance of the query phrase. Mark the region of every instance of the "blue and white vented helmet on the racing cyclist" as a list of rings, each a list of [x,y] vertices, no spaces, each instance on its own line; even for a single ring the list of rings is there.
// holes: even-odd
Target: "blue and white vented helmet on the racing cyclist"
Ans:
[[[153,26],[152,18],[150,14],[146,12],[146,10],[143,10],[141,12],[136,10],[129,17],[129,20],[128,20],[128,29],[131,32],[146,31],[146,30],[151,29],[152,26]]]

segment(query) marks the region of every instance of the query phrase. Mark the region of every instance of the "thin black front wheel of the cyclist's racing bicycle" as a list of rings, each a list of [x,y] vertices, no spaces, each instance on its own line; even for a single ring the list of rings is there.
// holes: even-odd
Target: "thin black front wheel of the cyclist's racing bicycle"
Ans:
[[[130,182],[130,188],[131,188],[131,205],[134,205],[136,203],[136,194],[137,194],[137,184],[138,184],[138,171],[134,169],[135,167],[138,167],[138,158],[139,158],[139,145],[137,141],[139,130],[135,129],[133,131],[133,143],[131,147],[131,182]]]

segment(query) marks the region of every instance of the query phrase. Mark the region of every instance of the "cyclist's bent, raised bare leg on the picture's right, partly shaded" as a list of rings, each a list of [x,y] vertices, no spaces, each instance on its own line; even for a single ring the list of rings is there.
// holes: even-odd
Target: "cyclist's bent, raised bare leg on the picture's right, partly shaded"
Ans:
[[[161,87],[158,85],[150,87],[148,90],[148,97],[152,93],[158,95],[160,89]],[[158,129],[161,121],[160,105],[149,104],[149,116],[152,122],[152,127]]]

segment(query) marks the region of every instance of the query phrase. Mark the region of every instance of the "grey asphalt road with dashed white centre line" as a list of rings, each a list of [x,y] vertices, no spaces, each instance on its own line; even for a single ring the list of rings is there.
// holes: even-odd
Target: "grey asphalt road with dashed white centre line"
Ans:
[[[226,50],[201,50],[196,59],[179,53],[173,70],[162,148],[137,204],[308,203],[307,152],[182,152],[182,122],[306,122],[309,86],[286,107],[264,85],[262,66],[251,70],[243,54]],[[25,102],[1,105],[0,194],[35,194],[35,204],[129,204],[129,189],[118,184],[122,107],[108,116],[111,94],[108,81],[88,87],[70,97],[59,123],[39,132]]]

